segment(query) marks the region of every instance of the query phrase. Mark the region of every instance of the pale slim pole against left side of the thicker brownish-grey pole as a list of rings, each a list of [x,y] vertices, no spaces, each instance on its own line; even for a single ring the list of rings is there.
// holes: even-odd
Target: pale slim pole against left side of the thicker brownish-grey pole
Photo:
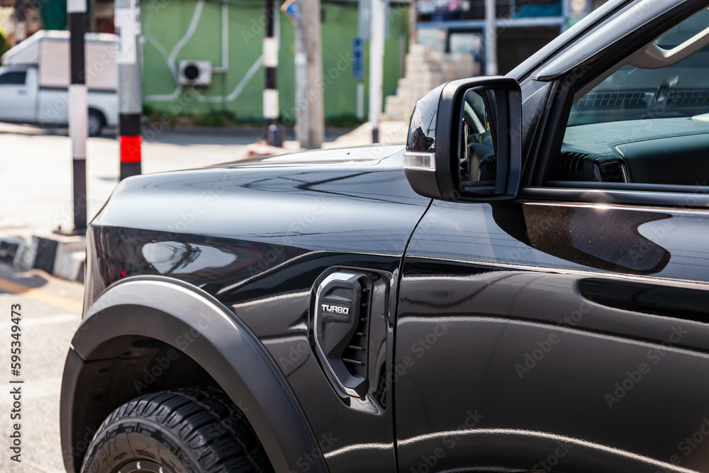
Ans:
[[[306,23],[306,6],[301,0],[296,1],[296,55],[294,57],[296,69],[296,140],[301,147],[313,148],[310,134],[310,101],[308,100],[308,52],[306,51],[306,37],[308,25]]]

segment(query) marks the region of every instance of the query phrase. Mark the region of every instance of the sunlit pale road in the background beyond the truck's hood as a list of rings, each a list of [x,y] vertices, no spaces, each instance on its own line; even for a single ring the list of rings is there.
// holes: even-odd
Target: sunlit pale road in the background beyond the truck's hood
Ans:
[[[162,131],[143,144],[143,173],[203,167],[241,159],[259,130],[229,133]],[[72,152],[65,130],[0,123],[0,218],[41,230],[73,228]],[[89,220],[118,183],[115,136],[86,145]],[[0,223],[0,226],[2,225]]]

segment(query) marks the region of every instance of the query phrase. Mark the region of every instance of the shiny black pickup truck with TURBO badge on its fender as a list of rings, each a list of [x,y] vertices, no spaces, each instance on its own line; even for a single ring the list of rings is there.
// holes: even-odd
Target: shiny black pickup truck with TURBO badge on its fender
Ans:
[[[67,472],[709,472],[707,7],[609,1],[406,148],[118,184]]]

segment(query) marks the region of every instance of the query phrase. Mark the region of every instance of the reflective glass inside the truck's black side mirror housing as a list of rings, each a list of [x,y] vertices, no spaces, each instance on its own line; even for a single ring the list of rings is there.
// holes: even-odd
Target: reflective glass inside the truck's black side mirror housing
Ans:
[[[460,179],[463,187],[494,184],[497,162],[494,130],[495,95],[477,87],[465,94],[460,134]]]

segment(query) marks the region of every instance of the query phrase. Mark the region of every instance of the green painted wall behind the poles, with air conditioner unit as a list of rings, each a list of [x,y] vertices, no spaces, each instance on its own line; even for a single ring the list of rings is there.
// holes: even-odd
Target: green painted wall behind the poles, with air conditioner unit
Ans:
[[[186,32],[201,5],[201,16],[194,34],[186,40]],[[262,90],[264,69],[242,84],[243,89],[233,100],[222,97],[234,94],[247,71],[261,55],[264,37],[262,9],[230,5],[229,9],[229,72],[213,74],[209,87],[177,88],[168,61],[174,57],[174,67],[180,60],[211,60],[220,65],[221,7],[216,3],[192,0],[150,0],[142,2],[143,35],[145,35],[143,94],[145,104],[155,111],[174,115],[200,115],[211,111],[227,111],[238,121],[262,120]],[[323,89],[325,118],[343,118],[356,113],[356,81],[352,79],[352,39],[357,34],[357,8],[323,5]],[[285,121],[294,115],[294,26],[283,13],[281,50],[279,53],[278,88],[281,116]],[[393,94],[399,77],[401,35],[408,34],[408,11],[392,9],[389,15],[389,40],[384,52],[384,96]],[[179,44],[182,43],[182,48]],[[406,42],[404,42],[406,44]],[[177,46],[177,48],[176,48]],[[179,49],[179,50],[178,50]],[[365,43],[365,114],[367,113],[368,43]],[[162,97],[156,97],[162,96]],[[366,116],[366,115],[365,115]],[[292,118],[291,118],[292,119]]]

